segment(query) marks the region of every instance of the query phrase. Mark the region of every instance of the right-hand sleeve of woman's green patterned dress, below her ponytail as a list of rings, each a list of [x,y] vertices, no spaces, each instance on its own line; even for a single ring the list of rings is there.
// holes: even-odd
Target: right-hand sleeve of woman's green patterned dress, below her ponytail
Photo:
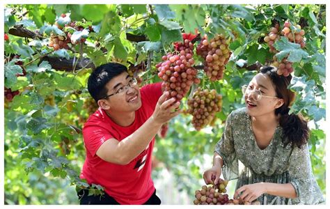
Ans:
[[[308,145],[292,149],[289,164],[290,183],[293,185],[297,198],[292,199],[294,204],[319,204],[325,200],[320,187],[317,185],[311,167],[311,158]]]

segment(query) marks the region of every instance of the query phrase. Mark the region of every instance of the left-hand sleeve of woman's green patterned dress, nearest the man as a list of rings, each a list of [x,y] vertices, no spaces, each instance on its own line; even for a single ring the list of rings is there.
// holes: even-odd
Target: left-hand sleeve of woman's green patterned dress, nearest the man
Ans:
[[[238,158],[233,139],[233,113],[229,114],[226,120],[225,129],[220,141],[215,146],[214,152],[218,153],[223,159],[223,178],[226,180],[238,178]]]

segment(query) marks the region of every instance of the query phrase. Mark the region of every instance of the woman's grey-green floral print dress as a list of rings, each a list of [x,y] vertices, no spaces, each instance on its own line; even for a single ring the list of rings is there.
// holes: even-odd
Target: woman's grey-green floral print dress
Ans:
[[[313,176],[308,145],[284,146],[282,127],[276,127],[272,141],[260,149],[246,108],[233,111],[215,152],[223,158],[223,177],[237,178],[236,189],[253,183],[291,183],[296,199],[262,194],[258,201],[265,205],[320,204],[324,197]]]

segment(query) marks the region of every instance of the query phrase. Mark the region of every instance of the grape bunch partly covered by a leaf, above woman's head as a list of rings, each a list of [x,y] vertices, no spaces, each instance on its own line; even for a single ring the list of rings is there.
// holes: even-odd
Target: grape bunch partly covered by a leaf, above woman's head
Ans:
[[[278,51],[274,47],[274,42],[276,40],[279,40],[281,36],[285,36],[288,38],[290,42],[295,42],[300,45],[301,48],[304,48],[306,43],[304,42],[304,35],[305,31],[301,29],[301,26],[297,24],[296,26],[292,26],[292,24],[288,21],[284,23],[283,29],[280,31],[280,25],[275,24],[272,29],[270,29],[270,32],[268,33],[268,36],[265,36],[264,40],[267,42],[269,46],[269,52],[272,52],[276,54]],[[293,72],[292,63],[288,61],[286,58],[278,61],[277,57],[273,57],[273,63],[274,67],[278,68],[277,73],[278,75],[283,75],[287,77],[290,75],[291,72]]]

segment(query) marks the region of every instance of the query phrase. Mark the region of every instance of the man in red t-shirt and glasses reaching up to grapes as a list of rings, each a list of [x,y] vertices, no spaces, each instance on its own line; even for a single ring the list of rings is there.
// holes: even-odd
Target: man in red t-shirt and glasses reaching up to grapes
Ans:
[[[103,196],[79,192],[81,204],[160,204],[151,179],[155,134],[180,114],[180,102],[167,100],[162,84],[143,86],[127,68],[107,63],[88,78],[88,91],[99,109],[84,124],[86,160],[80,178],[102,185]]]

